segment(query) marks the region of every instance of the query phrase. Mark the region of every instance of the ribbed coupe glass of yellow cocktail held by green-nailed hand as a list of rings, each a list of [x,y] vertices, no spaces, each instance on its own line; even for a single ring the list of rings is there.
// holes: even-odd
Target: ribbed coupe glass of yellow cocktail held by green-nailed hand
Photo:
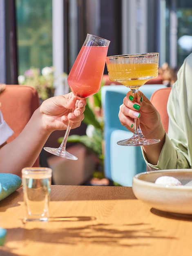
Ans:
[[[107,56],[109,79],[130,88],[137,100],[138,88],[158,76],[159,53],[127,54]],[[159,139],[145,138],[139,119],[134,120],[134,134],[130,139],[118,141],[122,146],[142,146],[158,143]]]

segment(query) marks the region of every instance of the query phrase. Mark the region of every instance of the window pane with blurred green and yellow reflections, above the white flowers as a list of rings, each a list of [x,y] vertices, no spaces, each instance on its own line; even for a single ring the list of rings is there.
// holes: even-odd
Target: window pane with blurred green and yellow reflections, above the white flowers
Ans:
[[[16,0],[18,74],[52,66],[52,0]]]

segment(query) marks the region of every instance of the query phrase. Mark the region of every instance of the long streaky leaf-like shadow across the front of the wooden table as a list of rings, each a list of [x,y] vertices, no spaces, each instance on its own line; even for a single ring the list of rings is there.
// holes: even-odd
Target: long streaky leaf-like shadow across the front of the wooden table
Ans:
[[[83,220],[82,217],[71,218],[79,218],[79,220]],[[92,217],[86,218],[90,218],[90,220],[92,219]],[[84,219],[85,221],[87,220],[86,218]],[[67,217],[67,219],[69,219],[69,217]],[[113,224],[103,223],[84,225],[83,227],[79,227],[79,225],[75,226],[73,223],[73,227],[66,227],[66,224],[65,227],[62,227],[62,224],[59,223],[59,228],[55,227],[54,229],[49,226],[48,222],[47,224],[47,228],[44,226],[43,229],[7,229],[7,234],[9,234],[9,240],[14,240],[16,242],[23,241],[24,243],[29,241],[66,245],[91,243],[125,247],[134,247],[138,245],[150,246],[150,243],[148,242],[149,240],[147,240],[148,238],[150,238],[150,240],[152,238],[176,239],[175,237],[165,236],[164,230],[158,230],[150,227],[150,224],[143,223],[118,225],[118,227]],[[146,242],[143,242],[143,239],[146,239]]]

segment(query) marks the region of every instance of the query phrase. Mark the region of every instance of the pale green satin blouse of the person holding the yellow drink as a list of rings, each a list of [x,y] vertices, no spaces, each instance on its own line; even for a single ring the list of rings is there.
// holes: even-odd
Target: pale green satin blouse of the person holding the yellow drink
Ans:
[[[157,165],[149,170],[192,168],[192,54],[177,73],[167,102],[169,128]],[[143,151],[143,150],[142,150]]]

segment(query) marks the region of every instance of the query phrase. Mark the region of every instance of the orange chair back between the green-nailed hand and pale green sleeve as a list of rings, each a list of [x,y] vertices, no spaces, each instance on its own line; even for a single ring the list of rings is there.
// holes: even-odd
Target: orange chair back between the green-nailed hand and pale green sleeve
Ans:
[[[151,103],[159,112],[163,127],[165,128],[166,132],[168,131],[169,125],[169,117],[167,114],[167,100],[169,98],[170,91],[171,87],[161,88],[159,90],[156,90],[150,98]]]

